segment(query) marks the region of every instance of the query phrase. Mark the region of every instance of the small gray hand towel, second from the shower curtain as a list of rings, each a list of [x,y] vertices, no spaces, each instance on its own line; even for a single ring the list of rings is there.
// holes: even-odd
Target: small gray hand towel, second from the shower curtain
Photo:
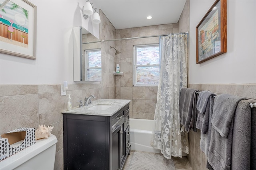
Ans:
[[[209,114],[212,112],[212,100],[211,98],[216,94],[211,92],[200,92],[196,108],[198,109],[198,117],[196,121],[196,128],[201,130],[202,134],[206,134],[208,131]]]

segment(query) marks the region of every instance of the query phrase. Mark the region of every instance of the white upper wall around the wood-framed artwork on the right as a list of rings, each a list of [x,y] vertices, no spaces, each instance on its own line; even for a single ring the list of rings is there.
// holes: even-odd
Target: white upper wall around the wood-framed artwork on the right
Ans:
[[[196,64],[196,26],[215,0],[190,0],[190,84],[256,83],[256,1],[228,0],[227,53]]]

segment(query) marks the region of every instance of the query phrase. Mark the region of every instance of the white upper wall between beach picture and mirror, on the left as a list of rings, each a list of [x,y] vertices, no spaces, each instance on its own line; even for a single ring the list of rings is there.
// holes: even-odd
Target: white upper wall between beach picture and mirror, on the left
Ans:
[[[82,16],[84,0],[30,0],[37,6],[36,60],[0,53],[0,84],[73,83],[72,28],[99,37],[99,25]]]

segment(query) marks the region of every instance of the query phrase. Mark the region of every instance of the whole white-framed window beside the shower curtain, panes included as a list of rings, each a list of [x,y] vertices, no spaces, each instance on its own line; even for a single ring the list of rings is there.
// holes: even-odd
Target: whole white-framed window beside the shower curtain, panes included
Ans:
[[[134,46],[134,86],[158,85],[159,44]]]

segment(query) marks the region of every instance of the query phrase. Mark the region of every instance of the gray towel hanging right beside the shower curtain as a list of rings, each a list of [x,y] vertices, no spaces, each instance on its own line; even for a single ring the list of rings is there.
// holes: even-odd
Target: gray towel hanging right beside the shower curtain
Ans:
[[[191,88],[182,88],[180,91],[180,123],[184,126],[185,131],[194,129],[194,124],[196,126],[194,123],[195,114],[198,114],[196,92],[199,90]]]

